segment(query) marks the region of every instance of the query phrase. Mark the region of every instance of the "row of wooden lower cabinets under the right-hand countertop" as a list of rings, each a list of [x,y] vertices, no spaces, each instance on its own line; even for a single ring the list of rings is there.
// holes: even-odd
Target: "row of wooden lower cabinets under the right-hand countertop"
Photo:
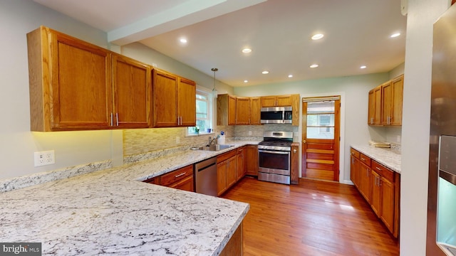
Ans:
[[[351,149],[351,180],[395,238],[399,235],[400,174]]]

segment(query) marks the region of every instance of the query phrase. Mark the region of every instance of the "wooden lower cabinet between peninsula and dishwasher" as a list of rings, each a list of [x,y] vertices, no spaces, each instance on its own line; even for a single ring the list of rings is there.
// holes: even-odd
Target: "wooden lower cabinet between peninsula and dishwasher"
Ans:
[[[193,165],[190,164],[167,174],[149,178],[144,182],[195,192],[194,180]]]

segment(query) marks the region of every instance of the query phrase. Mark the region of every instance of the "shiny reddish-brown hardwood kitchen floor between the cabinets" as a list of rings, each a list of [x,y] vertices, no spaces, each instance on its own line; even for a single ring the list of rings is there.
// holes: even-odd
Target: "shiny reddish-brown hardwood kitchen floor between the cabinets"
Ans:
[[[223,198],[250,204],[244,255],[399,255],[354,186],[301,178],[284,185],[245,177]]]

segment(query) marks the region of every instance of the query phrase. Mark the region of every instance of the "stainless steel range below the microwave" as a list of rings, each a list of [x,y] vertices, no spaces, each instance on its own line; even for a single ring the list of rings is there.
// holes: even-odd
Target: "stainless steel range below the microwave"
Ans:
[[[290,152],[293,132],[264,132],[258,144],[260,181],[290,183]]]

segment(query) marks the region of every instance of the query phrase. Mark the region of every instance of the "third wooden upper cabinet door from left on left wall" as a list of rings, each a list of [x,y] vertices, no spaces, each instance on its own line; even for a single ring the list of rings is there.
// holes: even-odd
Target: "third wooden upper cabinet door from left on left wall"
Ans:
[[[177,76],[154,69],[152,99],[153,127],[177,127]]]

